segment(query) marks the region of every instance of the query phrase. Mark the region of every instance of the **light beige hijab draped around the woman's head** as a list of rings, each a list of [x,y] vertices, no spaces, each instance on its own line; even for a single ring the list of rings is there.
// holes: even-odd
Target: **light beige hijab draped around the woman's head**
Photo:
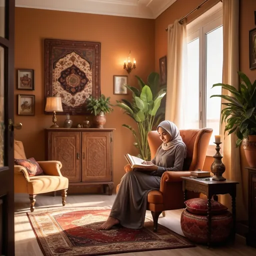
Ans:
[[[171,136],[171,139],[169,142],[162,143],[162,149],[169,150],[177,146],[178,144],[183,144],[185,146],[184,158],[186,158],[186,145],[183,142],[181,136],[179,135],[178,127],[173,122],[170,122],[168,120],[160,122],[156,130],[158,130],[158,127],[164,128]]]

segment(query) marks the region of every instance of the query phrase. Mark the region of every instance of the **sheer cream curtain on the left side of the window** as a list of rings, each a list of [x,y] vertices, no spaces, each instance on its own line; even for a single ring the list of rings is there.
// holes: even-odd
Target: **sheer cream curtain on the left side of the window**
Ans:
[[[183,126],[182,90],[186,77],[186,25],[175,20],[168,25],[167,90],[165,119]]]

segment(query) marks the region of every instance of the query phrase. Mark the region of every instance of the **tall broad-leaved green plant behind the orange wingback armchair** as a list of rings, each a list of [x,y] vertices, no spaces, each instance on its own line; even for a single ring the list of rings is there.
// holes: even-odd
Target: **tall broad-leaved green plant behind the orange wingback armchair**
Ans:
[[[159,74],[152,72],[147,77],[146,85],[139,76],[139,88],[125,85],[132,91],[132,99],[117,100],[117,106],[124,109],[124,113],[129,115],[137,124],[138,134],[133,127],[122,124],[123,127],[128,128],[134,138],[133,145],[138,149],[139,157],[145,161],[150,160],[150,150],[147,142],[147,134],[155,125],[155,121],[164,118],[164,111],[161,110],[161,100],[166,94],[165,88],[159,87]]]

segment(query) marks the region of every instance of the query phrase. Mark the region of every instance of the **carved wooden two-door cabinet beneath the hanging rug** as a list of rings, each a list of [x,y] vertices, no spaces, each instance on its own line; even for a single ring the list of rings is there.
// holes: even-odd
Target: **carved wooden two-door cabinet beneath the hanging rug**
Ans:
[[[47,128],[46,159],[62,163],[61,173],[72,185],[102,184],[113,190],[113,129]]]

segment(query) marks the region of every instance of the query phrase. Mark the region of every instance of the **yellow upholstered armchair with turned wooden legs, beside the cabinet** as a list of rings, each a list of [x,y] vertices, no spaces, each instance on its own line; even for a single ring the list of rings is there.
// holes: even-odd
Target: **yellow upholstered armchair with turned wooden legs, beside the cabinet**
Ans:
[[[14,158],[26,159],[24,147],[21,141],[14,140]],[[30,176],[21,165],[14,165],[14,193],[28,193],[30,199],[30,211],[34,210],[35,196],[57,190],[61,191],[62,205],[65,205],[68,179],[60,172],[59,161],[37,161],[43,170],[43,175]]]

